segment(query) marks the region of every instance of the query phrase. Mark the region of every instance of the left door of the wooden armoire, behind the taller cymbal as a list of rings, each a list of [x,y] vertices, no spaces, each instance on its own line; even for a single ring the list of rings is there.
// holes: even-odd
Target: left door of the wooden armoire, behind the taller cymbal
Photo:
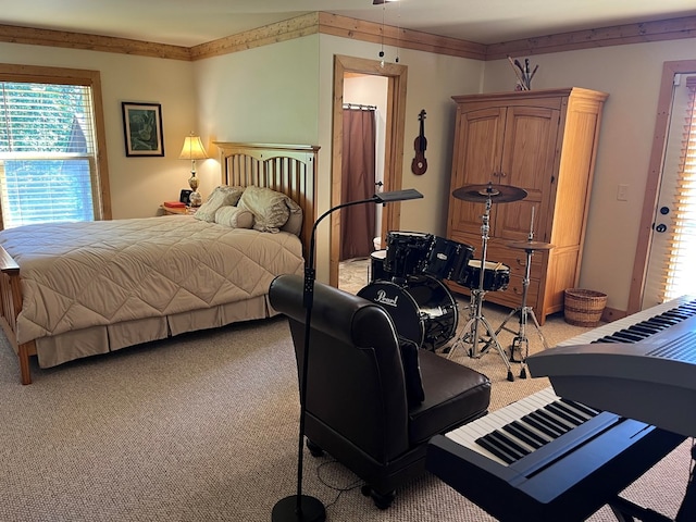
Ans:
[[[498,184],[502,157],[505,108],[482,109],[461,114],[455,154],[457,165],[451,190],[469,185]],[[449,229],[476,233],[481,229],[482,203],[450,196]]]

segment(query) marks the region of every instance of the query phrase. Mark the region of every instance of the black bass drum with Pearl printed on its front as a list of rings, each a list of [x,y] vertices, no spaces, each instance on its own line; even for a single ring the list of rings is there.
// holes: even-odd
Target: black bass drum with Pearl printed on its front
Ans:
[[[420,348],[435,350],[455,336],[457,301],[435,277],[410,277],[403,285],[376,281],[358,296],[381,304],[394,321],[397,334]]]

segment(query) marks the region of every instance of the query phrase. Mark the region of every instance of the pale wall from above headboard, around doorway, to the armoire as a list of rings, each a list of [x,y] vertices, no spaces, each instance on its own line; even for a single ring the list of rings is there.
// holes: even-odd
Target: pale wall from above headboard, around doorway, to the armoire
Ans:
[[[318,214],[331,204],[332,108],[334,55],[378,60],[380,46],[326,35],[312,35],[236,52],[195,64],[200,122],[211,140],[319,145]],[[394,61],[396,50],[385,48]],[[449,190],[453,115],[449,96],[480,88],[481,62],[401,50],[409,67],[403,186],[425,198],[402,206],[401,228],[444,234]],[[433,82],[437,78],[437,82]],[[411,174],[418,114],[427,112],[428,171]],[[432,122],[432,124],[431,124]],[[203,165],[201,179],[212,184],[219,165]],[[318,279],[328,279],[328,220],[318,231]]]

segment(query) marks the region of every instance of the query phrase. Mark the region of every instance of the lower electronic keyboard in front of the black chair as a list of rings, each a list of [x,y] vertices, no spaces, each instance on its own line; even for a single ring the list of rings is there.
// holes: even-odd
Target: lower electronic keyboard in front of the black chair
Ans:
[[[558,399],[550,387],[531,397],[437,435],[427,448],[427,470],[502,522],[585,520],[684,440],[639,421],[599,412],[517,460],[477,445],[477,438],[495,431],[519,444],[504,426],[515,420],[524,423],[539,401]]]

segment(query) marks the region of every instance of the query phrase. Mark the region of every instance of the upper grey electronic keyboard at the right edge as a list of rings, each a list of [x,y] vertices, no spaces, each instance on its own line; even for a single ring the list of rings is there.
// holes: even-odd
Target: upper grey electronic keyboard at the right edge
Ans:
[[[588,343],[535,353],[530,372],[566,398],[696,436],[696,299],[661,308]]]

